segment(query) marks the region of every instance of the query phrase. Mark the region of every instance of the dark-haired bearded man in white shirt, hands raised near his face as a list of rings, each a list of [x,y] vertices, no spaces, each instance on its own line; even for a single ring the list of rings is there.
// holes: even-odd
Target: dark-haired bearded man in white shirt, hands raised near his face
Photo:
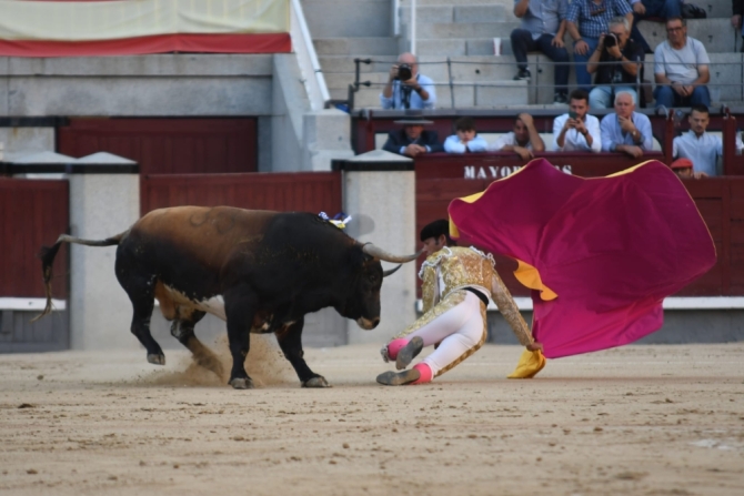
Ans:
[[[569,113],[553,121],[553,150],[556,152],[600,152],[600,120],[589,114],[589,94],[574,90],[569,98]]]

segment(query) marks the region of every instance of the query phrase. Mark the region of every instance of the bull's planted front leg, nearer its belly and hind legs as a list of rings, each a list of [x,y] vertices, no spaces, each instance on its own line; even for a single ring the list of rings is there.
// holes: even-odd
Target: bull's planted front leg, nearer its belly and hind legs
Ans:
[[[252,389],[253,381],[245,372],[245,357],[251,348],[251,325],[258,306],[258,297],[249,286],[235,286],[224,295],[224,313],[228,317],[228,340],[232,355],[229,384],[235,389]]]

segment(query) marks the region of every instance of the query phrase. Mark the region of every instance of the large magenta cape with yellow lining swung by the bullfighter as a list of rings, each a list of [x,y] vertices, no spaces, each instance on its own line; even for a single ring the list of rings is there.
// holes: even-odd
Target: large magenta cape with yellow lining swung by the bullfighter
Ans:
[[[517,280],[533,290],[533,334],[550,358],[658,330],[664,297],[715,264],[695,203],[656,161],[583,179],[537,159],[449,211],[455,236],[517,260]]]

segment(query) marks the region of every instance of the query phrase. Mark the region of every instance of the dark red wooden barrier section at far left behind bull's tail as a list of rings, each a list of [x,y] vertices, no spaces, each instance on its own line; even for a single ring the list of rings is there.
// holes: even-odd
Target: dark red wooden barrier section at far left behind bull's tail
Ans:
[[[0,178],[0,296],[44,297],[39,249],[68,232],[67,181]],[[62,247],[52,273],[54,297],[67,297],[68,255]]]

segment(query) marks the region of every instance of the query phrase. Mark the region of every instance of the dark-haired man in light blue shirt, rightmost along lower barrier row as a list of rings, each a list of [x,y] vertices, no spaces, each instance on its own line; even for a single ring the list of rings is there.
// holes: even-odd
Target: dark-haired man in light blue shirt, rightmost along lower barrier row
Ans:
[[[707,107],[694,105],[687,121],[690,131],[672,141],[672,156],[691,160],[694,172],[718,175],[716,163],[718,156],[723,156],[723,141],[705,132],[711,122]]]

